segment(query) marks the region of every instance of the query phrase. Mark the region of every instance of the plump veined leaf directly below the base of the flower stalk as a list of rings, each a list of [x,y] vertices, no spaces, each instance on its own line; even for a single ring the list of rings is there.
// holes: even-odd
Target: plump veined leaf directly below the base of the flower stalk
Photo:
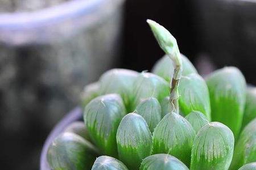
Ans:
[[[168,113],[153,133],[153,154],[170,154],[189,165],[195,130],[184,117]]]

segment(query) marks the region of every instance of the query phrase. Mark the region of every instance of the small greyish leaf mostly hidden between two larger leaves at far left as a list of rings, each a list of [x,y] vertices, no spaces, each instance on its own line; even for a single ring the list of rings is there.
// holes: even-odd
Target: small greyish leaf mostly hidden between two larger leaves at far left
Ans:
[[[77,135],[80,135],[80,137],[83,137],[87,141],[89,141],[89,142],[91,141],[90,140],[90,135],[89,135],[89,132],[88,132],[86,126],[85,126],[85,123],[82,122],[82,121],[73,122],[72,124],[68,125],[68,127],[65,128],[64,131],[75,133]]]

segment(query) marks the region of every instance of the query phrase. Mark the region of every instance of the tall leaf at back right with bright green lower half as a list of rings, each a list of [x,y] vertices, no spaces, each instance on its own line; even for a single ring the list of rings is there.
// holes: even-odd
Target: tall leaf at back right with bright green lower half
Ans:
[[[207,78],[212,120],[227,125],[237,138],[246,100],[246,82],[236,67],[224,67]]]

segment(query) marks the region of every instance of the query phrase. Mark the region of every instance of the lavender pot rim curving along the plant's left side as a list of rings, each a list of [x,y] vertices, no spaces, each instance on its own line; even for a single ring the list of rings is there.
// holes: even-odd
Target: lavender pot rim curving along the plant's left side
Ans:
[[[71,112],[67,114],[56,126],[53,128],[51,133],[48,135],[46,142],[44,142],[43,150],[41,152],[40,156],[40,170],[50,170],[49,165],[47,163],[47,151],[49,145],[51,145],[51,142],[53,139],[57,137],[60,133],[63,132],[65,128],[72,122],[82,120],[82,109],[77,107],[73,109]]]

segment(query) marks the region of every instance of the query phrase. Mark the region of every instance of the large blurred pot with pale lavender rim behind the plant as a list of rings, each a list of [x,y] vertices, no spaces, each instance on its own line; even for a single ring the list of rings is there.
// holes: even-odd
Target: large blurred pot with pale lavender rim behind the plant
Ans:
[[[123,0],[71,0],[0,14],[3,167],[15,169],[8,167],[15,166],[15,154],[16,166],[28,169],[18,162],[31,166],[31,148],[42,145],[47,131],[77,105],[86,83],[117,63],[122,6]]]

